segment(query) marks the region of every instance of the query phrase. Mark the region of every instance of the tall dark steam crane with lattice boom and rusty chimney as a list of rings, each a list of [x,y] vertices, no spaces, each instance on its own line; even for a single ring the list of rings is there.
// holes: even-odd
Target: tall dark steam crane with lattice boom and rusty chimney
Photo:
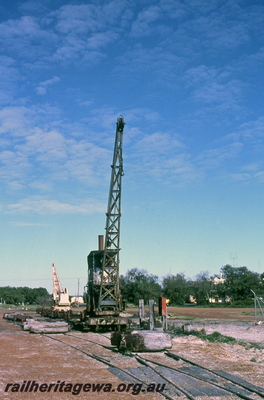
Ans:
[[[99,235],[99,249],[87,257],[88,283],[85,326],[108,326],[120,329],[127,323],[120,317],[122,301],[119,288],[119,239],[121,217],[121,178],[123,176],[122,139],[124,120],[117,118],[108,206],[106,212],[105,240]]]

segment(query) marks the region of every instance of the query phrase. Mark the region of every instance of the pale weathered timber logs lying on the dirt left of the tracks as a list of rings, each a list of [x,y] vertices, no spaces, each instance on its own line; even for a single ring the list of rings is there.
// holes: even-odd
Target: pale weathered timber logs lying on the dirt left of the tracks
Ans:
[[[64,321],[48,322],[36,319],[27,319],[23,327],[31,333],[66,333],[70,330],[70,326]]]

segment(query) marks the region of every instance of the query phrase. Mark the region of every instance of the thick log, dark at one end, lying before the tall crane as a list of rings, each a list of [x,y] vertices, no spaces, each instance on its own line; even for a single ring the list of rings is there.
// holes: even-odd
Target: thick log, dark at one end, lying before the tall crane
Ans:
[[[160,351],[171,348],[172,339],[168,333],[155,330],[111,332],[111,345],[117,346],[120,351]]]

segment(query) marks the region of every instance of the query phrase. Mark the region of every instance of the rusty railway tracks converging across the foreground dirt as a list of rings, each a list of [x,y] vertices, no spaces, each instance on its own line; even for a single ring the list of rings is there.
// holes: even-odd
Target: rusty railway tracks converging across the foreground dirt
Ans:
[[[99,333],[91,334],[89,339],[71,333],[60,334],[59,337],[50,334],[42,335],[107,365],[112,374],[121,381],[128,382],[130,387],[133,384],[141,384],[142,392],[148,391],[144,387],[147,387],[149,382],[155,382],[155,388],[158,388],[155,391],[168,400],[174,400],[179,396],[190,400],[201,397],[224,400],[264,398],[262,387],[227,372],[198,365],[169,351],[140,355],[119,352],[110,345],[109,337]]]

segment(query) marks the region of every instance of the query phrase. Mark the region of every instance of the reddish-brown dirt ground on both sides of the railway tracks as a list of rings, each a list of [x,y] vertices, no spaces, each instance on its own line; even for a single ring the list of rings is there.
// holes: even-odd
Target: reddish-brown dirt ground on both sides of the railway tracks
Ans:
[[[17,324],[2,319],[3,312],[8,311],[0,309],[0,355],[1,355],[1,377],[0,377],[0,398],[3,400],[87,400],[94,397],[97,400],[124,400],[125,398],[135,398],[131,393],[84,393],[73,396],[70,393],[54,392],[4,392],[6,383],[20,382],[23,380],[35,380],[36,382],[110,382],[113,386],[120,383],[120,379],[113,375],[106,365],[91,359],[84,354],[77,352],[71,347],[39,334],[24,332]],[[15,311],[18,311],[17,309]],[[128,311],[128,310],[126,310]],[[131,311],[135,312],[133,308]],[[29,315],[37,317],[34,312],[27,311]],[[168,307],[168,313],[171,315],[170,321],[174,319],[188,320],[191,323],[205,324],[210,329],[217,329],[223,325],[225,329],[231,328],[244,336],[249,332],[249,337],[261,343],[264,336],[264,325],[254,326],[254,310],[252,308],[198,308],[198,307]],[[38,315],[39,316],[39,315]],[[195,321],[194,321],[195,319]],[[216,321],[217,319],[217,321]],[[227,326],[226,326],[227,325]],[[258,332],[258,336],[255,334]],[[224,333],[224,332],[223,332]],[[104,340],[104,344],[109,345],[109,333],[105,337],[100,335],[99,339],[96,333],[92,332],[74,332],[75,335],[89,338],[90,340]],[[259,336],[260,335],[260,336]],[[69,340],[65,336],[58,334],[57,338]],[[235,337],[235,336],[234,336]],[[260,337],[260,340],[257,339]],[[263,341],[262,341],[262,344]],[[119,354],[111,353],[97,344],[80,342],[76,339],[76,345],[81,346],[83,350],[104,356],[112,362],[121,363],[122,367],[136,366],[135,361],[127,357],[125,365],[123,358]],[[227,343],[209,343],[195,336],[175,336],[172,339],[172,352],[186,357],[201,365],[212,369],[222,369],[233,373],[242,379],[253,384],[261,385],[264,376],[264,358],[261,348],[246,349],[242,345],[231,345]],[[148,353],[145,353],[147,356]],[[150,354],[150,353],[149,353]],[[162,352],[155,353],[156,357],[162,359],[165,357]],[[167,357],[165,357],[167,358]],[[167,359],[166,359],[166,362]],[[254,398],[254,396],[251,396]],[[157,393],[139,393],[137,400],[158,400],[161,398]],[[184,397],[183,397],[184,398]],[[223,396],[221,400],[234,400],[236,396]],[[210,398],[210,400],[219,400]]]

